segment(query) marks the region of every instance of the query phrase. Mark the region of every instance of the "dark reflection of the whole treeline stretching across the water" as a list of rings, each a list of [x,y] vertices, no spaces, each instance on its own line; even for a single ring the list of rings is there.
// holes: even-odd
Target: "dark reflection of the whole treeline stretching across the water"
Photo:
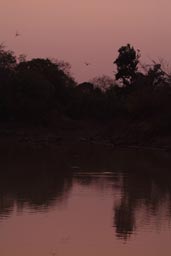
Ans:
[[[128,240],[144,227],[152,230],[155,225],[162,227],[165,221],[171,221],[169,172],[154,172],[154,169],[119,171],[121,168],[113,171],[101,170],[100,173],[94,170],[71,172],[72,168],[67,170],[64,167],[63,172],[58,172],[56,168],[34,170],[29,165],[23,168],[25,169],[1,172],[1,221],[10,217],[14,208],[23,213],[46,212],[69,198],[72,201],[72,191],[78,184],[84,189],[93,188],[97,193],[100,191],[103,198],[109,197],[113,201],[112,226],[119,239]],[[84,200],[81,194],[79,200]],[[91,201],[91,197],[88,200]],[[93,210],[97,211],[95,206],[89,207],[94,207]],[[69,210],[67,213],[70,214]],[[97,212],[97,215],[100,214],[101,212]]]

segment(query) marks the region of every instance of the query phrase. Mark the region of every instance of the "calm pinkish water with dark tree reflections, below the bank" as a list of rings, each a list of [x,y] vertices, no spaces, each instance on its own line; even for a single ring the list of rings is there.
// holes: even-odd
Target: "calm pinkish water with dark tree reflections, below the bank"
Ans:
[[[0,255],[171,255],[169,154],[88,148],[64,159],[9,159]]]

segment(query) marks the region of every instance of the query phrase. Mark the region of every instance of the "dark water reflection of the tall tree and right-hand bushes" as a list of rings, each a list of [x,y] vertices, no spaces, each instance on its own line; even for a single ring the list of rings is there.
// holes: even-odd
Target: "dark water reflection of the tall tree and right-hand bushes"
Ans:
[[[118,238],[127,240],[142,223],[152,218],[171,219],[171,175],[129,173],[123,175],[122,196],[114,207],[113,225]],[[142,213],[141,221],[140,212]],[[159,224],[159,223],[157,223]]]

